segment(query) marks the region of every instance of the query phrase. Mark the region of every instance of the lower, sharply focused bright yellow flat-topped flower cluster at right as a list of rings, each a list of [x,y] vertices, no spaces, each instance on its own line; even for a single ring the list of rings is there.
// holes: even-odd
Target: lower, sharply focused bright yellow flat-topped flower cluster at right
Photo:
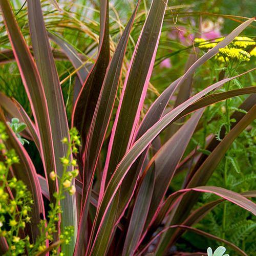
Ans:
[[[226,60],[249,61],[251,57],[248,52],[237,48],[221,48],[219,52],[223,60],[225,58]]]

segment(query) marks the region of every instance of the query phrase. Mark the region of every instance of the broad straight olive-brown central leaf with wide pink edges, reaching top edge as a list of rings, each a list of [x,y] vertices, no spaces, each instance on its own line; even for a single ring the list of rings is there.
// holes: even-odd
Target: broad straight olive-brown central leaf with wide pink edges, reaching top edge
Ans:
[[[117,164],[132,144],[153,71],[168,1],[153,1],[127,71],[104,166],[100,200]],[[143,63],[143,65],[142,65]]]

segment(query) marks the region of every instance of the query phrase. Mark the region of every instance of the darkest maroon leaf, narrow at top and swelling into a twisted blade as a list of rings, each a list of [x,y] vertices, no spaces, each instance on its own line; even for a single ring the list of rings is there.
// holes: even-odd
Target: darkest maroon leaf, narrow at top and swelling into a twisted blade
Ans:
[[[82,151],[98,101],[106,68],[110,60],[109,1],[100,0],[100,38],[97,60],[78,95],[72,114],[72,126],[76,127],[82,139]],[[83,153],[83,152],[82,152]]]

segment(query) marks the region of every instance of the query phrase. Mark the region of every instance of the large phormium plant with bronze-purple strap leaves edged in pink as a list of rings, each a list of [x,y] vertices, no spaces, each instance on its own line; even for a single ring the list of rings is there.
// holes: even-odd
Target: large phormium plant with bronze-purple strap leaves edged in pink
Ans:
[[[230,73],[229,77],[223,77],[191,97],[185,96],[187,92],[182,89],[191,83],[197,68],[212,57],[222,57],[222,61],[229,63],[232,58],[247,60],[250,56],[248,52],[252,49],[242,51],[233,47],[235,50],[230,50],[227,46],[254,18],[246,20],[225,38],[212,43],[210,49],[197,60],[189,59],[191,63],[187,71],[170,83],[141,118],[168,1],[152,1],[126,72],[115,113],[113,109],[126,46],[139,2],[110,56],[109,2],[100,0],[98,53],[88,72],[84,69],[83,60],[72,47],[47,32],[40,0],[27,0],[33,55],[17,24],[10,1],[0,0],[13,55],[33,114],[32,120],[17,101],[1,93],[0,120],[6,124],[7,120],[14,117],[27,125],[22,136],[35,143],[45,170],[45,177],[36,173],[31,158],[20,143],[21,135],[18,133],[17,137],[17,133],[15,135],[11,127],[5,125],[9,138],[0,137],[1,143],[9,150],[13,148],[19,158],[18,164],[10,166],[11,175],[25,184],[33,200],[29,208],[31,222],[26,223],[26,228],[19,225],[20,232],[17,234],[21,237],[20,241],[29,238],[30,244],[34,245],[38,244],[42,234],[46,238],[45,246],[40,244],[34,251],[29,245],[25,246],[25,253],[44,255],[52,251],[54,254],[65,255],[143,255],[153,247],[155,255],[164,255],[183,232],[189,230],[216,239],[238,254],[246,255],[231,242],[192,226],[225,200],[256,214],[256,205],[247,199],[255,197],[255,191],[238,194],[221,187],[206,186],[229,146],[256,117],[255,87],[227,88],[227,91],[218,93],[214,91],[255,69],[238,75]],[[54,3],[57,5],[56,1]],[[72,130],[71,136],[49,38],[70,59],[81,85],[78,93],[74,89],[71,124],[78,133]],[[195,46],[202,48],[202,44],[205,42],[198,41]],[[166,114],[166,106],[177,89],[177,97],[183,100]],[[220,131],[221,140],[212,138],[208,141],[205,150],[209,154],[202,153],[197,158],[181,190],[169,193],[169,184],[177,168],[181,168],[181,159],[205,107],[222,100],[228,103],[229,98],[245,94],[251,96],[240,106],[244,111],[236,111],[232,116],[228,114],[227,124]],[[112,124],[110,120],[114,114]],[[173,135],[163,145],[155,146],[161,132],[177,120],[185,122],[178,128],[176,126]],[[110,130],[108,136],[107,131]],[[81,144],[71,152],[73,144],[70,137],[79,141],[78,134]],[[106,155],[101,154],[103,143],[107,144]],[[5,147],[1,151],[0,160],[5,162]],[[69,174],[70,177],[78,176],[69,179]],[[63,188],[69,188],[71,195],[62,197]],[[12,190],[7,189],[5,192],[11,197]],[[216,194],[221,199],[195,209],[202,192]],[[44,207],[43,196],[50,202],[50,215]],[[16,210],[20,211],[19,206]],[[47,216],[49,218],[46,219]],[[18,218],[17,214],[17,221]],[[55,218],[56,225],[52,218]],[[23,221],[22,216],[20,220]],[[1,219],[1,223],[4,221],[6,219]],[[48,230],[49,223],[51,232]],[[2,228],[8,232],[10,227],[3,225]],[[71,241],[62,241],[65,234],[72,237]],[[17,255],[18,247],[11,246],[8,241],[7,235],[1,237],[1,253]]]

